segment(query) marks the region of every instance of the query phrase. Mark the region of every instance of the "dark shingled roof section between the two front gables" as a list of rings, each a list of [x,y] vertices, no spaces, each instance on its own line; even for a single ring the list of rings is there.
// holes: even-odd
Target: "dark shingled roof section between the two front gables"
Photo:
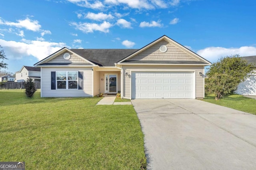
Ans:
[[[70,50],[99,66],[115,66],[114,63],[138,51],[138,49],[70,49]]]

